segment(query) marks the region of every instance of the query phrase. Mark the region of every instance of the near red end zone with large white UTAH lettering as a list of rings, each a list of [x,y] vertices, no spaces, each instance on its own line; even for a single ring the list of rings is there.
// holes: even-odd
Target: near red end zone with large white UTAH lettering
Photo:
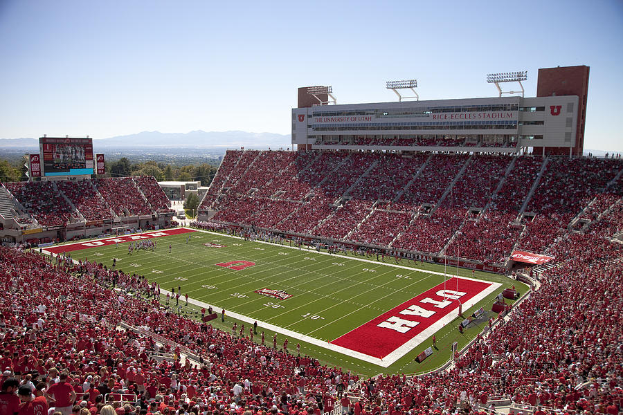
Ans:
[[[491,286],[489,282],[451,278],[331,343],[374,358],[384,358],[438,322],[461,303]]]

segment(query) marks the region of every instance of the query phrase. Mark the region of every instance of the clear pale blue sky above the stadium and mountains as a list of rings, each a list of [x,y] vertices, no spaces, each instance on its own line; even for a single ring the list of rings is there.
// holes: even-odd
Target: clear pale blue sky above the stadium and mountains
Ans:
[[[512,6],[510,6],[512,4]],[[0,0],[0,138],[290,133],[338,103],[496,96],[490,72],[590,66],[585,148],[623,152],[623,2]]]

